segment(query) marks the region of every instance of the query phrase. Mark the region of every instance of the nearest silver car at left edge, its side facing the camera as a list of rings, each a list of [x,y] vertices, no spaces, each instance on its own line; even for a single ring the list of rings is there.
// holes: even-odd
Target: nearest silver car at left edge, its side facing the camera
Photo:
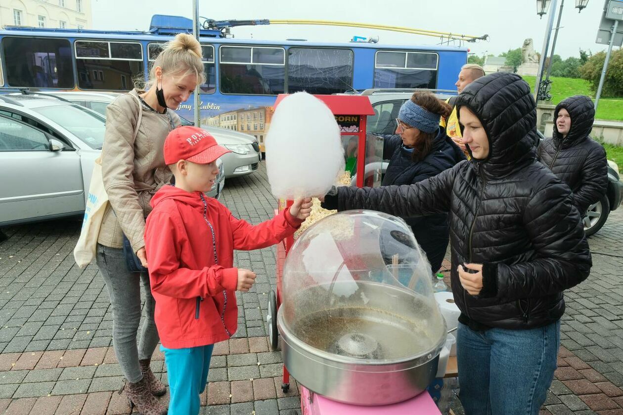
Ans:
[[[0,95],[0,227],[82,215],[104,131],[103,116],[68,101]],[[208,195],[223,184],[221,173]]]

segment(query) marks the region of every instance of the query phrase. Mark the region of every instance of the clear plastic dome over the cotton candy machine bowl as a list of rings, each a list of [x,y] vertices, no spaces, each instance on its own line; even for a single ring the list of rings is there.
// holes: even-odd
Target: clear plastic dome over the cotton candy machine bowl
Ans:
[[[288,253],[280,330],[341,361],[425,363],[446,334],[431,281],[403,220],[368,210],[336,213],[310,226]]]

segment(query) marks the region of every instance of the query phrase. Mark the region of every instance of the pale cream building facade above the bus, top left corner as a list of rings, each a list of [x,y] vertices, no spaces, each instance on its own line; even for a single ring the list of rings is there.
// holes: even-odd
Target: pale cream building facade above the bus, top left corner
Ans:
[[[91,29],[91,0],[0,0],[0,24]]]

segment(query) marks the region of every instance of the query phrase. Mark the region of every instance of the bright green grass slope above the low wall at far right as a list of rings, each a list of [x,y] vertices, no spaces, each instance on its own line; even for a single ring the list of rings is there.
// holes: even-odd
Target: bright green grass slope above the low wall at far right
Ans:
[[[525,76],[523,78],[534,90],[536,77]],[[554,105],[571,95],[588,95],[591,96],[591,98],[595,98],[595,96],[591,93],[589,83],[583,79],[556,77],[550,77],[549,79],[551,79],[552,82],[551,91],[549,92],[552,96],[550,102]],[[601,98],[599,100],[599,108],[597,108],[595,118],[623,121],[623,99]]]

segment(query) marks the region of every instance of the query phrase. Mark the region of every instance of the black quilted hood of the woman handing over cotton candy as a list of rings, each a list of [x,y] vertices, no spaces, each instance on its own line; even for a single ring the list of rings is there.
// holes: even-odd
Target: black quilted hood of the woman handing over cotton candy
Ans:
[[[456,106],[457,116],[460,107],[467,106],[485,128],[489,155],[472,158],[485,174],[503,177],[535,159],[536,105],[530,86],[519,75],[496,72],[478,78],[460,93]]]

